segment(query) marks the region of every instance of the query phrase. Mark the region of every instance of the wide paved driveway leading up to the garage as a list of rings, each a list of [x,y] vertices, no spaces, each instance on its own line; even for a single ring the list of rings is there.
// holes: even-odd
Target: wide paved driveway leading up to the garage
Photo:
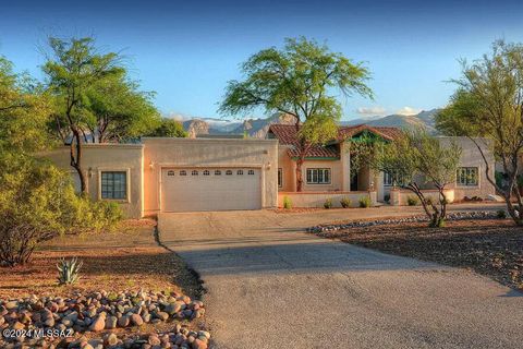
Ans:
[[[217,348],[522,348],[521,293],[301,232],[345,215],[165,214],[159,231],[205,281]]]

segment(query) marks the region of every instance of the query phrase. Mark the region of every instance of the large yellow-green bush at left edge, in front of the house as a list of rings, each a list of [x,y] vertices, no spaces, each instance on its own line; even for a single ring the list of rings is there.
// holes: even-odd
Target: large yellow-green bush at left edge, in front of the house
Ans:
[[[2,265],[28,262],[39,243],[59,234],[109,230],[121,218],[118,207],[77,196],[70,174],[49,161],[2,152],[0,168]]]

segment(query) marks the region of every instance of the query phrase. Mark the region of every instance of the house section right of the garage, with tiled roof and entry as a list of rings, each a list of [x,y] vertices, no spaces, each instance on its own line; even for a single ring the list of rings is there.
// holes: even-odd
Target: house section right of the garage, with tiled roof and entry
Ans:
[[[302,166],[304,177],[303,193],[295,193],[296,188],[296,151],[297,130],[295,125],[273,124],[269,129],[268,139],[279,141],[278,147],[278,190],[280,198],[283,195],[291,197],[291,201],[300,206],[321,206],[328,197],[333,198],[333,204],[343,196],[357,198],[357,194],[369,191],[375,192],[376,201],[384,202],[391,195],[392,181],[390,176],[380,172],[375,173],[368,167],[358,170],[351,176],[351,141],[372,133],[386,141],[392,141],[401,135],[401,130],[390,127],[369,127],[360,124],[354,127],[340,127],[336,140],[326,145],[313,146],[306,154]],[[447,196],[451,201],[461,201],[464,197],[485,198],[495,193],[485,174],[485,164],[474,142],[466,137],[438,137],[442,143],[455,142],[462,147],[460,166],[457,173],[457,181],[449,185]],[[494,178],[494,156],[490,154],[488,141],[478,140],[483,151],[491,164],[490,170]],[[427,193],[430,193],[430,183],[423,185]],[[314,195],[309,195],[313,194]],[[320,195],[324,193],[325,195]],[[335,195],[338,193],[337,195]],[[398,204],[405,204],[409,191],[401,190],[396,194]],[[356,201],[357,203],[357,201]],[[281,204],[281,200],[280,200]]]

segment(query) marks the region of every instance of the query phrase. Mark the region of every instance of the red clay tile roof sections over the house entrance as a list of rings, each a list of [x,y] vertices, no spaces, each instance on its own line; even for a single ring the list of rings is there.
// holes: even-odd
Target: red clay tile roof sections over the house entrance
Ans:
[[[340,127],[338,131],[338,136],[336,143],[346,140],[357,135],[363,131],[373,132],[386,140],[393,140],[401,134],[401,130],[397,128],[385,128],[385,127],[369,127],[366,124],[358,124],[354,127]],[[300,153],[297,152],[299,139],[297,130],[293,124],[271,124],[269,128],[269,133],[273,134],[280,144],[290,145],[289,156],[297,157]],[[339,147],[337,144],[331,145],[315,145],[305,155],[306,157],[340,157]]]

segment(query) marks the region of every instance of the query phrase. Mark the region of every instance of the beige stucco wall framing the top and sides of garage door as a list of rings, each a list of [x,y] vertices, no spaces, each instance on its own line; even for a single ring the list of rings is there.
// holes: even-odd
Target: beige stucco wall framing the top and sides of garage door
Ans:
[[[144,214],[160,210],[161,169],[167,167],[253,167],[262,176],[263,207],[278,204],[278,141],[146,137]]]

